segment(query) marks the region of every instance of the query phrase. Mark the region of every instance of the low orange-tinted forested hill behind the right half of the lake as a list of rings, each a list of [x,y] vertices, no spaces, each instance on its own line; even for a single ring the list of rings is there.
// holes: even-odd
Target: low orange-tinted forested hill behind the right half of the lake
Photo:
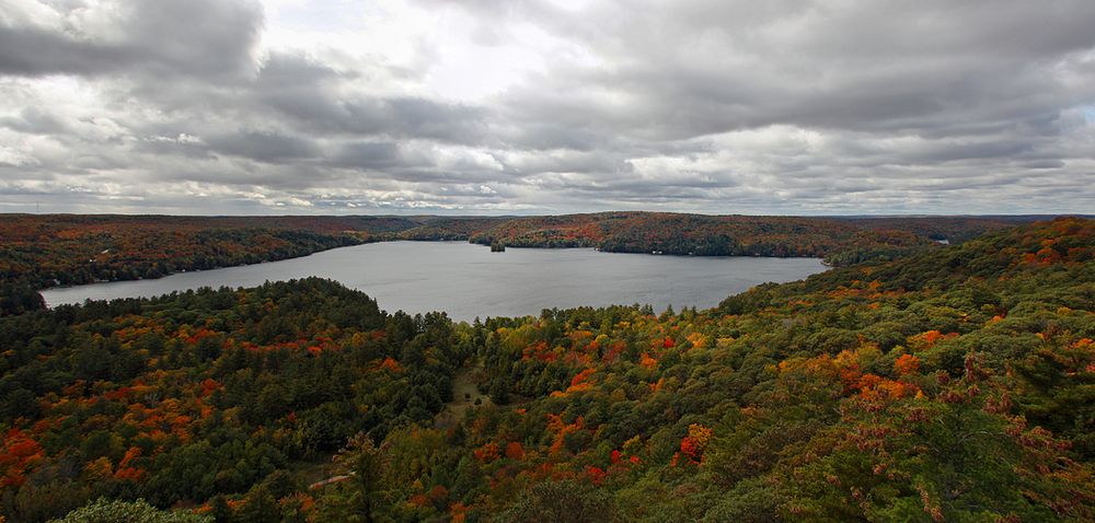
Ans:
[[[1023,218],[802,218],[602,212],[515,218],[470,240],[517,247],[597,247],[695,256],[812,256],[832,265],[894,259],[936,241],[960,242]]]

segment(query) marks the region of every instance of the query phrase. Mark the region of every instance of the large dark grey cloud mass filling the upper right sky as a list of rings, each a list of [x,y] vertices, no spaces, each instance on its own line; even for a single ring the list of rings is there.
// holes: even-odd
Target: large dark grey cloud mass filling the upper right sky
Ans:
[[[548,89],[515,93],[512,109],[682,139],[775,124],[940,132],[1046,117],[1095,95],[1091,85],[1064,92],[1054,73],[1069,54],[1095,46],[1092,2],[803,5],[685,1],[672,13],[613,4],[543,16],[612,62],[552,71]],[[633,30],[606,32],[606,20]],[[584,89],[567,89],[573,82]],[[606,92],[630,97],[629,111],[598,103]]]

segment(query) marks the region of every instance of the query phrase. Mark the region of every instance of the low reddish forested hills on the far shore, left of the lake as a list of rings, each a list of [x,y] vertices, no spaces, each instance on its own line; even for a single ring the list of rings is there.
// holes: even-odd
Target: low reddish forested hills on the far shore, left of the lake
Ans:
[[[418,226],[397,218],[7,214],[0,315],[41,309],[38,289],[159,278],[304,256]]]

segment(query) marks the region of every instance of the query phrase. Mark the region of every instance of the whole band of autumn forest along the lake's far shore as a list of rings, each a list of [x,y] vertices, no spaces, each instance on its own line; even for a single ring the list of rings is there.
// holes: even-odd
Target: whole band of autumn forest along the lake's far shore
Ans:
[[[37,290],[159,278],[391,240],[598,247],[698,256],[892,259],[1029,217],[822,219],[603,212],[558,217],[165,217],[5,214],[0,314],[42,309]]]

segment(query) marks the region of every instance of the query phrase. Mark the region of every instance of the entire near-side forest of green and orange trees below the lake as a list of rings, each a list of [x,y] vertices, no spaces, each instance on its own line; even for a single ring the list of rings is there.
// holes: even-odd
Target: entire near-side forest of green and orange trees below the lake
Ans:
[[[0,513],[1091,521],[1093,339],[1084,219],[660,315],[452,324],[323,280],[61,306],[0,318]]]

